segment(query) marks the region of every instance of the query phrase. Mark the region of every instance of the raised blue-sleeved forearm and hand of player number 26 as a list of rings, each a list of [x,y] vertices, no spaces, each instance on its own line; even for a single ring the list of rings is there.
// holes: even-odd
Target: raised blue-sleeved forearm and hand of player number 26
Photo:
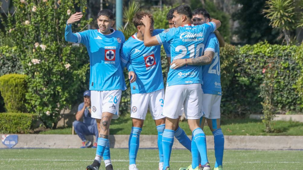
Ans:
[[[68,18],[68,20],[66,22],[66,27],[65,27],[65,40],[66,41],[69,41],[72,43],[80,43],[81,36],[78,36],[78,35],[72,33],[72,23],[74,23],[76,21],[80,21],[82,16],[83,16],[82,12],[76,12],[75,14],[72,14],[70,18]]]

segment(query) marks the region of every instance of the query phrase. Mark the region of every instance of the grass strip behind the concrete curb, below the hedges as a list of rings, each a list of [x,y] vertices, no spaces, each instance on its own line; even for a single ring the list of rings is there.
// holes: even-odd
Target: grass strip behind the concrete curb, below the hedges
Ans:
[[[184,129],[187,135],[191,134],[187,121],[180,122],[180,127]],[[128,115],[123,115],[117,120],[112,120],[110,125],[110,134],[129,135],[132,127],[132,120]],[[261,120],[255,119],[227,119],[222,118],[221,128],[224,135],[303,135],[303,123],[294,121],[274,121],[273,127],[275,133],[265,133],[264,124]],[[204,128],[206,135],[212,135],[208,127]],[[72,134],[72,128],[48,130],[40,134]],[[156,135],[157,130],[155,122],[150,114],[147,115],[142,132],[143,135]]]

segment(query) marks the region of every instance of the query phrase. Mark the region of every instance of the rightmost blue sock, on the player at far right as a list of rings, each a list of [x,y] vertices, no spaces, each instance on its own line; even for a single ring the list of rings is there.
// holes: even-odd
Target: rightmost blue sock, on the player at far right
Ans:
[[[222,161],[223,161],[224,136],[221,128],[213,131],[212,134],[214,135],[214,142],[215,142],[215,157],[216,157],[215,168],[217,168],[219,165],[222,165]]]

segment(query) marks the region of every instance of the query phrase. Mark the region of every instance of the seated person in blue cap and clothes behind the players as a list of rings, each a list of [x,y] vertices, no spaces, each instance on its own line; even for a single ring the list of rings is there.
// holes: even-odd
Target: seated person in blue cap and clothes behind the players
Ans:
[[[84,102],[79,104],[78,112],[76,114],[76,120],[73,122],[75,132],[82,140],[82,146],[80,148],[97,148],[98,129],[95,118],[91,117],[91,91],[87,90],[83,94]],[[83,117],[83,122],[80,119]],[[96,142],[92,144],[91,141],[85,138],[85,135],[95,135]]]

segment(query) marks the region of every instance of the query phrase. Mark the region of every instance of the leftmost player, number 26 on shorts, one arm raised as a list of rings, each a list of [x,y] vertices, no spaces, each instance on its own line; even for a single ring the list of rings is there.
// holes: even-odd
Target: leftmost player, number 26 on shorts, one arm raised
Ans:
[[[98,13],[98,30],[73,34],[72,23],[81,18],[82,13],[76,12],[67,20],[65,40],[84,44],[90,59],[92,117],[97,121],[99,137],[95,160],[86,169],[98,170],[104,156],[106,169],[110,170],[113,168],[109,153],[109,124],[112,118],[117,119],[119,116],[121,93],[126,88],[120,65],[120,53],[125,37],[121,31],[111,28],[115,23],[114,14],[108,9]],[[130,74],[135,77],[134,72]]]

